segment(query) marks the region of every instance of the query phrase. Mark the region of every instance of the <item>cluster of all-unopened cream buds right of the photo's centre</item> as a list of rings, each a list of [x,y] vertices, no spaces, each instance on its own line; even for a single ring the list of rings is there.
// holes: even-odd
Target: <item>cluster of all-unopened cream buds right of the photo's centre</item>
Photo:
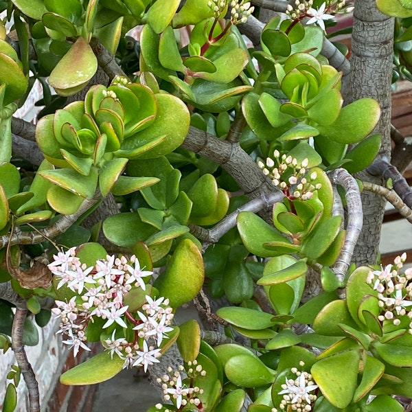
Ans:
[[[291,156],[282,155],[280,157],[279,150],[273,152],[275,161],[268,157],[264,163],[258,161],[258,166],[262,169],[263,174],[270,177],[273,185],[279,187],[285,196],[290,200],[300,198],[306,201],[313,196],[314,190],[319,190],[321,184],[312,185],[312,181],[317,178],[317,173],[312,172],[309,176],[307,173],[308,159],[304,159],[298,163],[297,159]]]

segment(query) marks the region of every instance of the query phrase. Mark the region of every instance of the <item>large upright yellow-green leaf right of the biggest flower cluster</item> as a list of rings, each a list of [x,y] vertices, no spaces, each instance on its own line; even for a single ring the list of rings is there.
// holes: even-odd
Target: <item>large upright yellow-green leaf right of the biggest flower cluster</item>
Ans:
[[[166,270],[157,277],[154,286],[162,296],[168,297],[172,308],[177,308],[199,293],[204,278],[201,252],[192,240],[183,239],[177,245]]]

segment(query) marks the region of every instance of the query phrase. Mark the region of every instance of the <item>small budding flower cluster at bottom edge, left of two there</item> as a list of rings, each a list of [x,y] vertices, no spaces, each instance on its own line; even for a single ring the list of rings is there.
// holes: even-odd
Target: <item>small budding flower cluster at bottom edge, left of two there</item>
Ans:
[[[181,407],[185,407],[187,404],[193,405],[195,411],[200,411],[203,409],[198,394],[203,393],[203,389],[196,386],[193,387],[192,383],[196,376],[205,376],[206,371],[203,370],[202,365],[199,365],[196,360],[188,362],[187,365],[189,367],[187,370],[181,365],[179,366],[179,371],[175,371],[174,374],[172,374],[173,369],[169,367],[168,372],[171,375],[163,375],[157,379],[157,382],[162,384],[161,387],[163,389],[163,399],[165,402],[172,400],[179,411]],[[185,375],[189,378],[189,385],[183,384],[182,372],[185,372]],[[161,409],[162,405],[157,404],[156,408]],[[165,412],[170,411],[166,409]]]

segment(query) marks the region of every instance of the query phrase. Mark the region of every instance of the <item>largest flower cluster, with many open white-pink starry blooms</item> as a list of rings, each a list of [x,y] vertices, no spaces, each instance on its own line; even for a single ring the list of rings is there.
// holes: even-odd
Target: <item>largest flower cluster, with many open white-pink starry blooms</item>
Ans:
[[[54,255],[54,262],[48,265],[58,280],[57,289],[64,286],[73,297],[69,301],[56,300],[57,308],[52,312],[61,317],[60,330],[69,339],[63,341],[73,347],[74,356],[80,347],[86,345],[87,326],[95,318],[105,321],[102,330],[111,333],[111,339],[104,341],[106,350],[113,358],[117,354],[124,359],[124,367],[143,366],[159,362],[159,346],[173,328],[172,308],[164,297],[152,299],[146,295],[146,303],[135,314],[128,312],[124,296],[133,288],[146,290],[144,278],[152,275],[140,267],[135,255],[115,258],[107,255],[89,268],[76,257],[76,248]],[[114,329],[116,327],[116,329]],[[133,330],[133,342],[126,340],[124,330]],[[128,333],[130,336],[130,332]]]

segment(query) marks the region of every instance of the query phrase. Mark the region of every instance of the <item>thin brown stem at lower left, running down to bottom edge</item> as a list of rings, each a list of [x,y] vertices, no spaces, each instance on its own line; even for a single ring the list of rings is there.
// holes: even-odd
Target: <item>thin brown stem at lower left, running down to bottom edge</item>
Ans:
[[[17,365],[23,374],[27,390],[29,392],[29,411],[40,412],[38,383],[32,365],[30,365],[23,345],[23,327],[27,309],[16,308],[12,326],[12,350],[16,356]]]

